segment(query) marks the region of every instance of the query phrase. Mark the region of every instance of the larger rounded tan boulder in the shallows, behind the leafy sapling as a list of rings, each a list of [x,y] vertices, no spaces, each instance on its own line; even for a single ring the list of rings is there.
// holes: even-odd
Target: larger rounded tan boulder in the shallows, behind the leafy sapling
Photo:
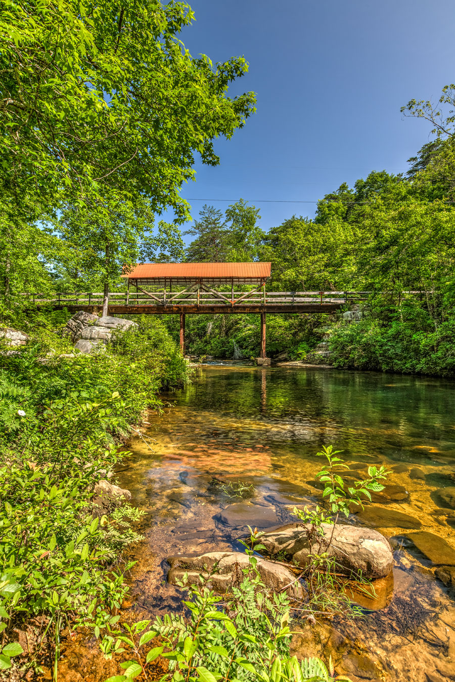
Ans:
[[[309,554],[328,552],[336,561],[336,569],[349,577],[368,580],[384,578],[392,571],[393,554],[390,542],[367,528],[343,524],[321,524],[323,535],[311,533],[309,524],[287,524],[264,533],[262,544],[270,555],[280,554],[300,567],[309,563]],[[333,533],[333,535],[332,535]]]

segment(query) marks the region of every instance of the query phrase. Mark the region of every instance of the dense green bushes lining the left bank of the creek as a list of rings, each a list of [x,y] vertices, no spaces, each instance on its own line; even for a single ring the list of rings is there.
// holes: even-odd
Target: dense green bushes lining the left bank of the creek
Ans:
[[[95,355],[43,357],[59,341],[44,329],[28,329],[18,355],[0,355],[0,632],[14,642],[35,617],[41,645],[54,640],[58,653],[65,623],[99,634],[117,620],[121,550],[138,537],[129,521],[139,512],[124,504],[93,518],[93,488],[125,456],[115,441],[189,370],[155,318]],[[11,665],[2,655],[0,670]]]

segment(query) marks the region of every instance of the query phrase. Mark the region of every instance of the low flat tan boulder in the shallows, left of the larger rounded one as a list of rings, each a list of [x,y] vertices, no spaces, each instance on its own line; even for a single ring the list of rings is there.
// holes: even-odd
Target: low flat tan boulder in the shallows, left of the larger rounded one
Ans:
[[[183,580],[185,573],[189,582],[209,579],[212,589],[227,591],[236,580],[243,577],[242,569],[249,567],[249,558],[242,552],[207,552],[198,557],[168,557],[171,565],[168,582],[176,584]],[[256,564],[262,581],[275,592],[286,592],[292,599],[302,599],[304,592],[296,576],[285,566],[257,557]]]

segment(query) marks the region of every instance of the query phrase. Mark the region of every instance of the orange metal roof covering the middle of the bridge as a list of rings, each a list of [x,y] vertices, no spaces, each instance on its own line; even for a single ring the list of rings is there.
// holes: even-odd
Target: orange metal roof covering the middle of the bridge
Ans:
[[[270,277],[270,263],[143,263],[122,277],[135,280],[260,280]]]

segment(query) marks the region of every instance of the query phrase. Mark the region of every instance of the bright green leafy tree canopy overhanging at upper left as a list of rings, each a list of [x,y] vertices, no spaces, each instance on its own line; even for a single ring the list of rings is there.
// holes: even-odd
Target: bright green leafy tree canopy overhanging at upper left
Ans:
[[[227,95],[242,57],[194,59],[179,40],[193,12],[171,0],[25,0],[0,11],[0,196],[93,205],[150,198],[187,217],[179,195],[195,153],[254,111]],[[14,218],[14,215],[12,216]]]

